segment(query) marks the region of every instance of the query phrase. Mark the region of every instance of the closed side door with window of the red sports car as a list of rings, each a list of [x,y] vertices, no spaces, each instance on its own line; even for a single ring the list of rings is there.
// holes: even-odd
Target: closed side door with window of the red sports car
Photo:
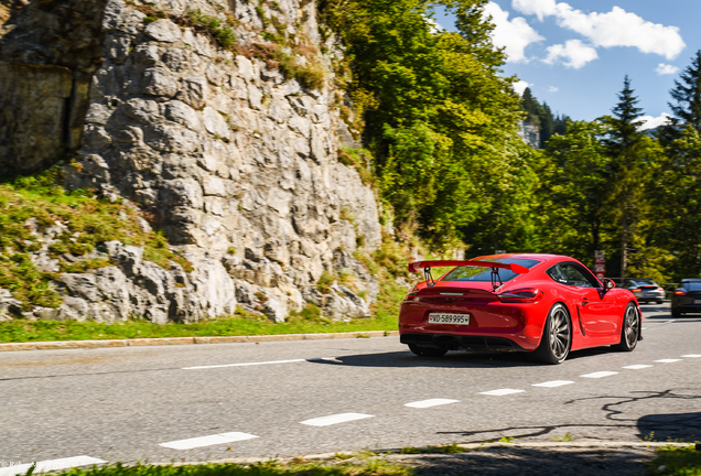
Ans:
[[[598,281],[583,266],[575,262],[562,262],[559,266],[568,285],[579,296],[576,312],[585,336],[594,339],[617,336],[619,316],[616,316],[615,299],[600,288]]]

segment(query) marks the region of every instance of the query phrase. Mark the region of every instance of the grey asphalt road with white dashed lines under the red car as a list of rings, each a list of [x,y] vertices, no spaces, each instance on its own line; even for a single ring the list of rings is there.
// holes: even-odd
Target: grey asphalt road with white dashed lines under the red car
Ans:
[[[0,475],[75,456],[700,439],[701,316],[643,310],[633,353],[576,351],[559,366],[521,354],[416,357],[398,337],[0,354]]]

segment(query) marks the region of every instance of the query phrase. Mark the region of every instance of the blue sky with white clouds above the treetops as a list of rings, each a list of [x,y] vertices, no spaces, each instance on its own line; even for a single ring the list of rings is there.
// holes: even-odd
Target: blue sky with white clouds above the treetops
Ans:
[[[657,126],[673,80],[701,50],[701,0],[492,0],[487,11],[509,56],[505,74],[575,120],[610,113],[627,74]],[[443,12],[435,19],[454,30]]]

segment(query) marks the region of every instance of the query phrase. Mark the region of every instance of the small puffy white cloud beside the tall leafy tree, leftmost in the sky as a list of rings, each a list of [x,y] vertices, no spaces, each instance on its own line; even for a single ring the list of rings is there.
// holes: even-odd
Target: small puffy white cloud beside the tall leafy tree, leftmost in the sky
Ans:
[[[509,13],[494,2],[487,3],[484,11],[485,14],[492,15],[492,22],[495,25],[492,32],[494,44],[505,47],[509,62],[527,61],[526,47],[531,43],[544,40],[528,24],[526,19],[517,17],[509,20]]]

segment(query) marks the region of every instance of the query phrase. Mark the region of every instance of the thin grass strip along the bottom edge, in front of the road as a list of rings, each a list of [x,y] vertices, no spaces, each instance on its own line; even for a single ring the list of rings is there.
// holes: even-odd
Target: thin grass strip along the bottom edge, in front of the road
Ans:
[[[411,476],[413,472],[405,466],[390,464],[382,458],[364,458],[353,462],[312,463],[295,458],[291,463],[270,461],[254,465],[206,464],[188,466],[151,466],[137,464],[125,466],[119,463],[71,469],[64,476]]]

